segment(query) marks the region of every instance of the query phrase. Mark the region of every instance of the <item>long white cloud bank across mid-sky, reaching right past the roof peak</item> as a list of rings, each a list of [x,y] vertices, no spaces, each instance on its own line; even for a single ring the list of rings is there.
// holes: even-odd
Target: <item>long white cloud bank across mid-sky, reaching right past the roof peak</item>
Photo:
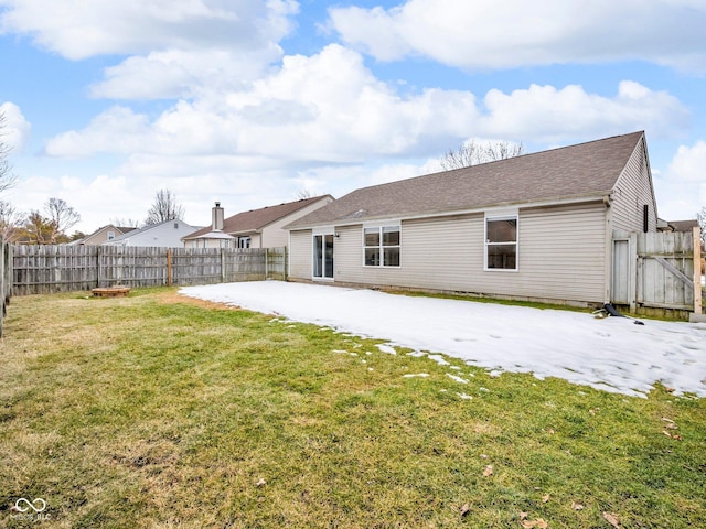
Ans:
[[[361,163],[437,155],[470,137],[546,144],[643,129],[668,136],[687,121],[674,96],[634,82],[622,82],[613,97],[578,85],[493,89],[480,101],[461,90],[403,95],[376,79],[360,54],[333,44],[309,57],[286,56],[245,88],[179,101],[152,120],[114,107],[52,139],[46,152]]]

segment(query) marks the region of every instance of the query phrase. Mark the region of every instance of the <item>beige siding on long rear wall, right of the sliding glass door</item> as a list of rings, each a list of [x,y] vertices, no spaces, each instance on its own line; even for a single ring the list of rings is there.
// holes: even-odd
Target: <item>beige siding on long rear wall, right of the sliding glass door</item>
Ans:
[[[363,227],[336,228],[335,280],[600,303],[605,212],[602,203],[521,210],[517,271],[483,270],[483,214],[403,220],[399,268],[364,267]]]

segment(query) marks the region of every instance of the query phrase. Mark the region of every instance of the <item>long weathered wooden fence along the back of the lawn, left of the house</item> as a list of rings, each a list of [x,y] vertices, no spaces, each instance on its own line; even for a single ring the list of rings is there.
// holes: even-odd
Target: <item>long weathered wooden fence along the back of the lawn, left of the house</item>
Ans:
[[[15,295],[287,278],[286,248],[12,247]]]

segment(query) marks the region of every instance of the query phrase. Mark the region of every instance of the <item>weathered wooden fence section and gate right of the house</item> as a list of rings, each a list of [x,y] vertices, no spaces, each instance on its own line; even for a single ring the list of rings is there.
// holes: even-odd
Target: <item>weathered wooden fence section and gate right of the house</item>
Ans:
[[[613,234],[611,302],[635,313],[702,314],[700,231]]]

